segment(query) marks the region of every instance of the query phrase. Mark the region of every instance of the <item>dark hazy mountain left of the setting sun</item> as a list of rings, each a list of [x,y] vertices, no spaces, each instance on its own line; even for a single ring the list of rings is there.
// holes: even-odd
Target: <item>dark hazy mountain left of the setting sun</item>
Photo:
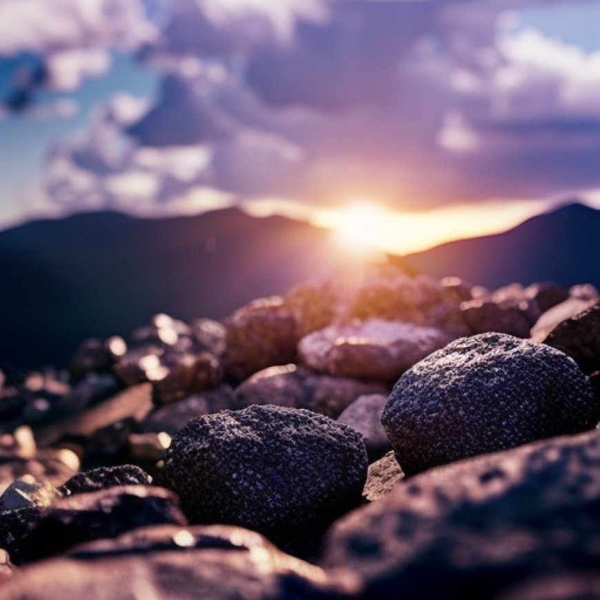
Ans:
[[[86,337],[129,334],[157,312],[221,319],[343,261],[326,230],[235,208],[34,221],[0,232],[0,361],[64,365]]]

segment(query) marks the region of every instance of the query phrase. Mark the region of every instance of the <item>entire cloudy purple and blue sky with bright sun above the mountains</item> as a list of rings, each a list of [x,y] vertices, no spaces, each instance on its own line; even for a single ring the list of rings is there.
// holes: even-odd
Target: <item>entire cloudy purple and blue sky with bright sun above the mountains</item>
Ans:
[[[233,204],[403,253],[573,198],[600,0],[0,0],[0,228]]]

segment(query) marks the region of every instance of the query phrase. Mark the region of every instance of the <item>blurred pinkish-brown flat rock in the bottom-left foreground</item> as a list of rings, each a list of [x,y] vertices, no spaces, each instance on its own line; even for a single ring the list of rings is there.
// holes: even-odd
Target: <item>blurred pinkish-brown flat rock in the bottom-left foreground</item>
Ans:
[[[6,600],[341,600],[353,574],[328,574],[240,528],[158,526],[74,548],[28,566],[2,588]]]

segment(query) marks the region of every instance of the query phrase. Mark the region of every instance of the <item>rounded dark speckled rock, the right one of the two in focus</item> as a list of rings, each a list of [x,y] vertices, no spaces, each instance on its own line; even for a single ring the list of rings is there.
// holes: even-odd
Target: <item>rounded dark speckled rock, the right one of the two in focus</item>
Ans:
[[[381,423],[407,475],[577,433],[600,421],[588,379],[559,350],[501,333],[463,338],[415,365]]]

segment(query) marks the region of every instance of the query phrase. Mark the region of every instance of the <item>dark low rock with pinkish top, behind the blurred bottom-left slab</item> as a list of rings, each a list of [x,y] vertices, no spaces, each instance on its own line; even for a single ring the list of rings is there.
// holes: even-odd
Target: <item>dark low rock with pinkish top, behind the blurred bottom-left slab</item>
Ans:
[[[74,494],[46,508],[10,510],[0,517],[0,548],[17,565],[145,525],[186,524],[172,492],[147,486]]]

